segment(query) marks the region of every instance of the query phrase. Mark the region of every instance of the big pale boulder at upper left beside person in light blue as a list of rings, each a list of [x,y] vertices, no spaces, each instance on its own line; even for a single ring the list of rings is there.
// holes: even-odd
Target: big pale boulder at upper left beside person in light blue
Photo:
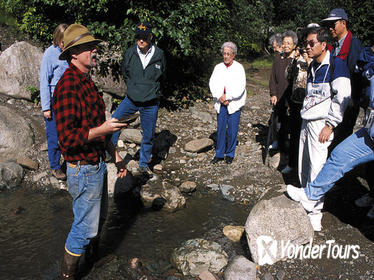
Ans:
[[[17,42],[0,55],[0,93],[31,100],[28,87],[39,88],[41,49],[27,42]]]

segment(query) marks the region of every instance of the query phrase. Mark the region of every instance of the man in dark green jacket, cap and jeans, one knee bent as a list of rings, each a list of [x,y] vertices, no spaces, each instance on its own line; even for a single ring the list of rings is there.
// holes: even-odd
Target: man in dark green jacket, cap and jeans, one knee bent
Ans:
[[[164,52],[152,44],[152,27],[147,22],[137,25],[136,44],[126,50],[122,62],[122,75],[127,96],[118,106],[113,118],[121,119],[140,112],[143,139],[140,147],[139,171],[152,176],[148,166],[151,158],[160,97],[160,81],[165,73]],[[120,132],[112,136],[117,145]]]

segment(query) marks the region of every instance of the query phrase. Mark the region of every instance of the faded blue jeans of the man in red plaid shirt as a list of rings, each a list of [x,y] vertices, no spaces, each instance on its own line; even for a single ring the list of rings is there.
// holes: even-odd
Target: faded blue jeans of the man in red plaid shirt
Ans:
[[[71,255],[82,255],[90,240],[99,233],[108,208],[106,164],[72,165],[67,163],[67,185],[73,198],[74,221],[65,249]]]

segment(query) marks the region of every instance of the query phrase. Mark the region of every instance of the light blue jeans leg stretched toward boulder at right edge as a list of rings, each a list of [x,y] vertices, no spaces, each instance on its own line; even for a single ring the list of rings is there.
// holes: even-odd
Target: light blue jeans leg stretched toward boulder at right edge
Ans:
[[[316,179],[305,188],[307,197],[319,200],[345,173],[355,166],[374,160],[374,141],[361,128],[341,142],[331,153]]]

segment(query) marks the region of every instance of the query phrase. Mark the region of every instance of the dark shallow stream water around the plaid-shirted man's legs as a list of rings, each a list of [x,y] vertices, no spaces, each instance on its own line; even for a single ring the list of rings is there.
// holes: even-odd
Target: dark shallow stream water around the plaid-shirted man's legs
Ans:
[[[196,192],[174,213],[142,206],[134,197],[109,199],[100,254],[138,257],[155,270],[167,269],[174,248],[224,225],[243,225],[249,206],[215,193]],[[58,269],[72,222],[66,191],[39,193],[20,188],[0,192],[0,278],[51,279]],[[240,250],[240,249],[239,249]]]

